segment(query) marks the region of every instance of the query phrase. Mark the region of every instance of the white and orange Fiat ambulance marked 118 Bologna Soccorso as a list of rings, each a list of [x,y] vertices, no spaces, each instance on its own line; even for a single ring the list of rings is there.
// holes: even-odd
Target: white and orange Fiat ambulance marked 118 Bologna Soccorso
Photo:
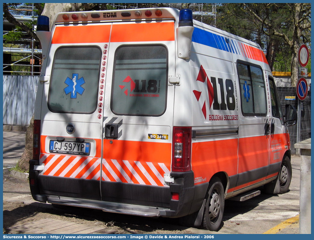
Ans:
[[[296,110],[258,44],[173,8],[39,16],[36,33],[36,201],[218,231],[225,199],[288,190]]]

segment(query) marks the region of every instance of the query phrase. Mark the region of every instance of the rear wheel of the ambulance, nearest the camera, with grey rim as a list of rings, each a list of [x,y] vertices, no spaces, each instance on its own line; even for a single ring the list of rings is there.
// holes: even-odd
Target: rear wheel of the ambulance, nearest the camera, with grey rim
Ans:
[[[219,177],[213,177],[209,181],[209,191],[206,194],[206,204],[201,227],[206,230],[217,232],[221,228],[224,207],[224,187]]]

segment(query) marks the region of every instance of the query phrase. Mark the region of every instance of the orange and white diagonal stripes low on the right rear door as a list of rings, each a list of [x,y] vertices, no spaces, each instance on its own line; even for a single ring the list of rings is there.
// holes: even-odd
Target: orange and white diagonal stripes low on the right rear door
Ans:
[[[164,173],[170,173],[164,163],[103,159],[101,179],[111,182],[164,186]]]

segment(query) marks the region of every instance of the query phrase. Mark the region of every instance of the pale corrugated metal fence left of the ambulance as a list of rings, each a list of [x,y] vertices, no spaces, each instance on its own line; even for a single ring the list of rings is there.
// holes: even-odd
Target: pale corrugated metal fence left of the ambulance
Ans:
[[[30,125],[39,76],[3,76],[3,125]]]

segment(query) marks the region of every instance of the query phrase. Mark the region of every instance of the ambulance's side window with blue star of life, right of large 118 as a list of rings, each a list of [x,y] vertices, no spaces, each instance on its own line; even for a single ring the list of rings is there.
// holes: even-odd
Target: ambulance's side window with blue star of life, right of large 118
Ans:
[[[266,90],[262,69],[246,63],[238,63],[237,70],[240,81],[243,115],[266,115]]]

